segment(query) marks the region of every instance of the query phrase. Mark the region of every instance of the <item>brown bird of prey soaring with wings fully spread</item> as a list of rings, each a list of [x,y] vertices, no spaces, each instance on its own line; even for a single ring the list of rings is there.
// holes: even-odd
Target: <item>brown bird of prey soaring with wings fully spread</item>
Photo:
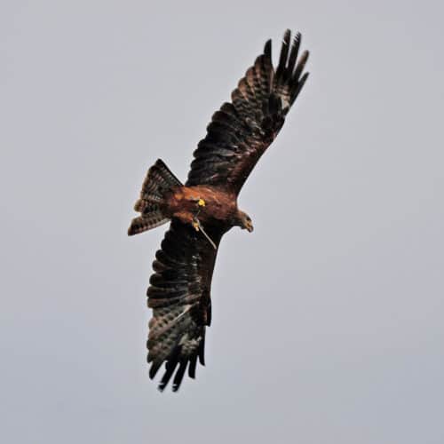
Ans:
[[[251,170],[281,130],[285,116],[308,77],[308,52],[298,58],[300,34],[287,30],[274,70],[271,40],[226,102],[212,116],[207,134],[194,151],[183,185],[158,160],[148,171],[128,234],[139,234],[170,221],[147,289],[149,321],[147,361],[154,378],[165,363],[159,390],[173,377],[195,377],[204,365],[205,329],[211,322],[211,276],[222,236],[233,226],[253,231],[237,197]]]

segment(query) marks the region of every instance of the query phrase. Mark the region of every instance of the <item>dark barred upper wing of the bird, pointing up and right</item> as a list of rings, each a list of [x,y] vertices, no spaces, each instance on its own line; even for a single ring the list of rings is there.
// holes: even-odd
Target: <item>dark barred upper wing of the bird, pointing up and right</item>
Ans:
[[[187,186],[211,185],[230,188],[237,194],[259,157],[281,130],[285,115],[304,86],[302,75],[308,52],[297,61],[300,34],[291,43],[290,31],[283,37],[276,72],[271,41],[266,42],[253,67],[212,116],[205,139],[194,151]]]

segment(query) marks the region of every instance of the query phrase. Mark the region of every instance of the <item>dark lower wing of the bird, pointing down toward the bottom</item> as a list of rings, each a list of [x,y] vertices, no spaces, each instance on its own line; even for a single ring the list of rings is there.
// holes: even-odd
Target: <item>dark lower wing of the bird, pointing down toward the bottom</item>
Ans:
[[[225,231],[205,226],[218,246]],[[148,307],[153,309],[147,341],[149,377],[165,362],[159,385],[163,390],[175,373],[176,392],[188,368],[195,375],[197,359],[204,365],[205,327],[211,321],[210,285],[217,250],[192,226],[173,219],[161,250],[155,254],[147,290]]]

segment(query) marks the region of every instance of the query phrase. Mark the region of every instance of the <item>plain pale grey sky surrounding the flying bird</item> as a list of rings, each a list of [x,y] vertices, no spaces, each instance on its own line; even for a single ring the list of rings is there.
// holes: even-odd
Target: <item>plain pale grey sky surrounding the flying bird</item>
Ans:
[[[0,439],[444,442],[443,7],[423,1],[6,1],[0,10]],[[210,115],[285,28],[312,75],[222,242],[207,366],[147,377],[164,227]]]

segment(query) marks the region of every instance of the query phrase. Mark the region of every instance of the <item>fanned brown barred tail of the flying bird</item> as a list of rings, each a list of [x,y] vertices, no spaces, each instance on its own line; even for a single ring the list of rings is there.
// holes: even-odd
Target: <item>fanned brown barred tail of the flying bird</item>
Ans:
[[[134,205],[134,210],[139,211],[141,215],[132,219],[131,226],[128,228],[129,236],[161,226],[170,220],[163,213],[163,202],[165,193],[174,186],[182,186],[182,184],[159,159],[148,170],[139,200]]]

